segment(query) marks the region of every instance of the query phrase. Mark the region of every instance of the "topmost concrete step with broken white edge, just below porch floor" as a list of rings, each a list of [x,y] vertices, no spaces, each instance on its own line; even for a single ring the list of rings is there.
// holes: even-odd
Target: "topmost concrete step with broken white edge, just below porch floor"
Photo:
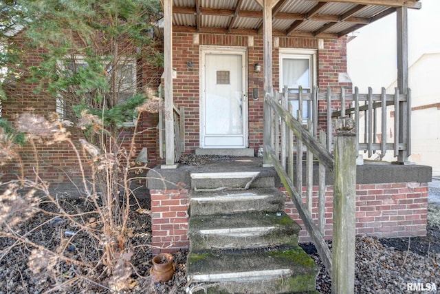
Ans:
[[[219,191],[234,188],[274,187],[274,177],[261,171],[223,171],[191,174],[191,187],[194,191]]]

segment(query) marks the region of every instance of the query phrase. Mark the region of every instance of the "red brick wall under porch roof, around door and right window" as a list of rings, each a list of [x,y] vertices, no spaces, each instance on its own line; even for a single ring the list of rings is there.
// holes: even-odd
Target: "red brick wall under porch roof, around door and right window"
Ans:
[[[173,79],[173,98],[177,106],[186,107],[185,110],[185,147],[186,153],[193,153],[199,147],[199,45],[224,45],[248,47],[248,120],[249,120],[249,147],[258,150],[263,144],[263,37],[254,36],[254,45],[249,46],[248,36],[199,34],[199,43],[194,42],[192,32],[173,33],[173,67],[177,70],[177,78]],[[340,92],[341,86],[351,86],[338,82],[338,74],[347,72],[347,48],[344,38],[338,40],[323,40],[323,48],[318,49],[318,39],[279,37],[279,48],[300,48],[318,50],[318,85],[327,90]],[[274,87],[279,90],[279,48],[273,52],[273,80]],[[187,61],[193,66],[188,67]],[[254,64],[260,63],[262,71],[254,72]],[[259,90],[259,99],[254,100],[252,89]],[[334,106],[333,108],[336,108]],[[320,113],[327,109],[327,105],[320,105]],[[322,123],[326,123],[323,118]]]

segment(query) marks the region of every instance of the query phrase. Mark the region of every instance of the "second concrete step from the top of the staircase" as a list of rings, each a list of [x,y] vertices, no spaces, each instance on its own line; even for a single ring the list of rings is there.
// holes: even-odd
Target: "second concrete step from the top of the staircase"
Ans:
[[[285,195],[278,189],[190,193],[190,215],[208,216],[245,211],[284,211]]]

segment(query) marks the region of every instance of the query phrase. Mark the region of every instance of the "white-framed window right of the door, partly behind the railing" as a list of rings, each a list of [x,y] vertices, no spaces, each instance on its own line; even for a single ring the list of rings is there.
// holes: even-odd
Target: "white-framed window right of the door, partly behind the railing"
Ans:
[[[299,87],[303,92],[310,93],[316,84],[316,51],[315,50],[280,50],[280,85],[287,86],[290,93],[298,93]],[[298,101],[290,101],[293,106],[293,116],[296,118],[299,109]],[[311,101],[303,101],[303,123],[311,118]]]

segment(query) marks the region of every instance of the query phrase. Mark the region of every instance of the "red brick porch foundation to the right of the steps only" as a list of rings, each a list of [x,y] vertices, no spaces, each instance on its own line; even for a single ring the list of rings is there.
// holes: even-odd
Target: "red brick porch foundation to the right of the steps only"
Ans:
[[[314,187],[313,213],[318,220],[318,187]],[[333,229],[333,186],[327,186],[325,203],[325,238]],[[428,205],[427,183],[386,183],[356,186],[356,234],[377,238],[426,235]],[[303,228],[299,241],[310,242],[292,200],[287,197],[285,212]]]

